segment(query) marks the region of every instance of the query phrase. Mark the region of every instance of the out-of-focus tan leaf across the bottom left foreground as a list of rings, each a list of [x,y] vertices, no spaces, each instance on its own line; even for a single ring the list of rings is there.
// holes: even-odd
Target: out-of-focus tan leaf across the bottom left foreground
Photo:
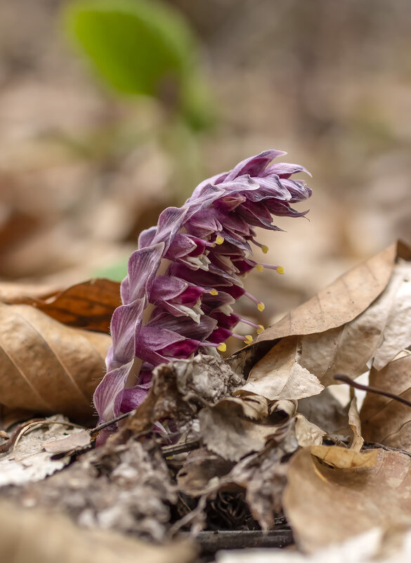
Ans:
[[[190,563],[189,541],[152,545],[107,530],[87,530],[66,516],[0,503],[1,560],[7,563]]]

